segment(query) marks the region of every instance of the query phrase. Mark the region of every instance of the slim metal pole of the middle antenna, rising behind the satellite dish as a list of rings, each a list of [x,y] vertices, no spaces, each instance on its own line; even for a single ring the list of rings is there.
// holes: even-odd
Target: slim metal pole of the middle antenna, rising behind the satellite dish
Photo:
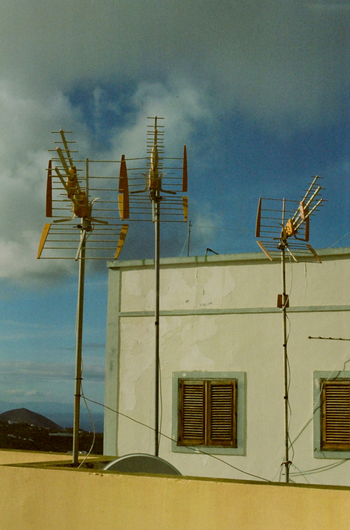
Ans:
[[[155,227],[155,425],[154,425],[154,455],[158,456],[159,451],[159,251],[160,251],[160,193],[155,192],[154,227]]]

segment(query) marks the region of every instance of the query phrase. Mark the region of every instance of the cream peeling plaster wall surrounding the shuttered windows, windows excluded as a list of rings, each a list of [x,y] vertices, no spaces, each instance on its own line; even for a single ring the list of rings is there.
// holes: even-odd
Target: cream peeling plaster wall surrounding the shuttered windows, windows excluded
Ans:
[[[350,360],[349,342],[308,339],[309,335],[350,336],[350,249],[318,252],[322,264],[287,262],[286,270],[290,292],[291,454],[294,452],[293,462],[301,470],[334,462],[314,458],[313,373],[345,369]],[[110,356],[114,351],[118,369],[113,376],[107,370],[106,404],[117,388],[114,406],[154,427],[153,262],[112,262],[109,275],[107,352]],[[120,281],[116,289],[117,275]],[[282,315],[276,308],[279,293],[281,265],[279,261],[269,262],[263,254],[161,260],[161,431],[171,436],[173,372],[245,372],[245,456],[218,456],[269,480],[278,480],[284,458]],[[117,351],[112,348],[115,345],[119,345]],[[106,418],[106,454],[153,454],[152,429],[124,417],[115,424],[110,415]],[[161,437],[159,455],[183,474],[247,478],[211,456],[174,453],[171,440],[165,437]],[[291,471],[297,473],[294,468]],[[319,479],[350,485],[349,463],[315,476],[314,483]],[[293,480],[306,482],[299,475]]]

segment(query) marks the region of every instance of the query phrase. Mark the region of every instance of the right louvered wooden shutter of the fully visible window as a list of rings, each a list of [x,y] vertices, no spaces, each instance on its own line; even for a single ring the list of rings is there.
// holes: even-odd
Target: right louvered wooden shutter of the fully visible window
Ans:
[[[237,382],[208,381],[207,445],[237,447]]]

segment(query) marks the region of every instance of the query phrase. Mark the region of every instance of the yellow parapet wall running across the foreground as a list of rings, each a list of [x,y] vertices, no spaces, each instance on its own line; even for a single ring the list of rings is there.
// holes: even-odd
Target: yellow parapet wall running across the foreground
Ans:
[[[53,459],[52,459],[53,460]],[[348,530],[350,488],[0,466],[4,530]]]

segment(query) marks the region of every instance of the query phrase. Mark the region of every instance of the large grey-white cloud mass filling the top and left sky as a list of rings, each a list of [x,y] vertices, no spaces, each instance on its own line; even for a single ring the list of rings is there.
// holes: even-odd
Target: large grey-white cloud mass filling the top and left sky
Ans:
[[[36,260],[51,130],[73,130],[84,156],[97,152],[115,160],[143,156],[146,117],[155,113],[166,118],[165,143],[174,156],[199,125],[210,129],[232,110],[280,132],[336,119],[349,84],[347,7],[278,0],[4,0],[0,278],[48,279],[76,270],[68,260]],[[98,133],[104,86],[113,84],[134,87],[128,110],[115,103],[130,119],[116,123],[102,153],[67,94],[77,86],[91,89]]]

